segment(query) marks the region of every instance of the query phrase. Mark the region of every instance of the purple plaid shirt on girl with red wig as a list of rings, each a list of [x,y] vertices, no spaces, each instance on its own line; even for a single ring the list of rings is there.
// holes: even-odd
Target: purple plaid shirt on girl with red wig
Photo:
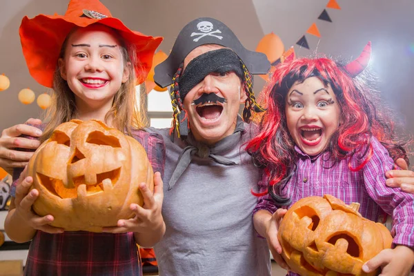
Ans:
[[[384,210],[393,216],[393,244],[414,248],[414,195],[386,186],[385,172],[393,169],[393,159],[375,137],[371,139],[371,145],[373,157],[357,172],[349,170],[349,159],[333,165],[332,160],[326,160],[328,152],[312,158],[296,148],[300,154],[297,170],[286,186],[279,188],[279,194],[290,197],[292,204],[304,197],[326,194],[342,199],[346,204],[359,202],[359,213],[373,221],[377,221]],[[351,158],[353,168],[362,161],[356,155]],[[266,179],[260,181],[260,190],[264,191],[267,184]],[[290,206],[275,206],[270,196],[265,195],[259,198],[254,212],[265,209],[274,213],[278,207]]]

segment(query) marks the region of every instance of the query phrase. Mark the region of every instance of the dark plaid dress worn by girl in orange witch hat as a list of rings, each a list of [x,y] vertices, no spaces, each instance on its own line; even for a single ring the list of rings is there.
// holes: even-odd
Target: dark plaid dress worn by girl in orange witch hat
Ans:
[[[43,130],[44,125],[38,126]],[[145,148],[154,172],[164,176],[165,146],[160,135],[135,130],[132,136]],[[35,139],[33,137],[28,137]],[[17,179],[22,169],[14,170]],[[16,181],[12,184],[14,197]],[[134,233],[85,231],[48,234],[37,231],[30,243],[25,275],[142,275]]]

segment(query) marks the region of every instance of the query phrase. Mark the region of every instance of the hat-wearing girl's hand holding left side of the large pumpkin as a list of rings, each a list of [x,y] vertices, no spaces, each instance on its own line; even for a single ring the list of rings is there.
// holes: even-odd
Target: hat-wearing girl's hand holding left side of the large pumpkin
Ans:
[[[50,226],[50,222],[53,221],[52,215],[46,215],[39,217],[32,211],[32,206],[37,197],[39,197],[39,191],[36,189],[30,190],[32,186],[32,177],[26,177],[26,168],[21,172],[16,187],[16,197],[14,198],[15,209],[14,214],[19,215],[22,219],[27,221],[28,226],[36,230],[42,230],[46,233],[63,233],[63,229]]]

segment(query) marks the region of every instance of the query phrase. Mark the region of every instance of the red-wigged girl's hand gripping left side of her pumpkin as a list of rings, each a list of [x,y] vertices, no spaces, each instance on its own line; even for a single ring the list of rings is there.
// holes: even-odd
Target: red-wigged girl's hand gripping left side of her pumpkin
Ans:
[[[279,264],[280,267],[290,270],[288,264],[282,257],[282,246],[279,244],[279,239],[277,239],[277,230],[279,230],[280,222],[288,210],[286,209],[277,209],[276,212],[272,215],[269,220],[268,227],[266,230],[266,240],[270,248],[270,252],[273,255],[275,262]]]

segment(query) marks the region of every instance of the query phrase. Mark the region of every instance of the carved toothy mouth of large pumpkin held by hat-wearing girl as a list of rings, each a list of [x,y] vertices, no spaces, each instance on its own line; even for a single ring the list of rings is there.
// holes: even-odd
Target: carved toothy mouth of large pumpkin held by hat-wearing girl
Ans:
[[[121,175],[121,168],[115,170],[110,170],[108,172],[102,172],[97,174],[97,184],[86,185],[85,176],[81,175],[79,177],[74,177],[73,184],[75,188],[66,188],[61,179],[55,179],[53,177],[48,177],[47,175],[42,175],[37,172],[37,179],[39,184],[46,188],[52,195],[65,198],[76,198],[78,197],[78,188],[83,185],[85,188],[82,188],[86,191],[86,195],[93,195],[95,193],[101,193],[108,188],[112,189]],[[107,186],[103,184],[103,181],[108,179],[112,186]],[[109,181],[106,181],[108,183]]]

